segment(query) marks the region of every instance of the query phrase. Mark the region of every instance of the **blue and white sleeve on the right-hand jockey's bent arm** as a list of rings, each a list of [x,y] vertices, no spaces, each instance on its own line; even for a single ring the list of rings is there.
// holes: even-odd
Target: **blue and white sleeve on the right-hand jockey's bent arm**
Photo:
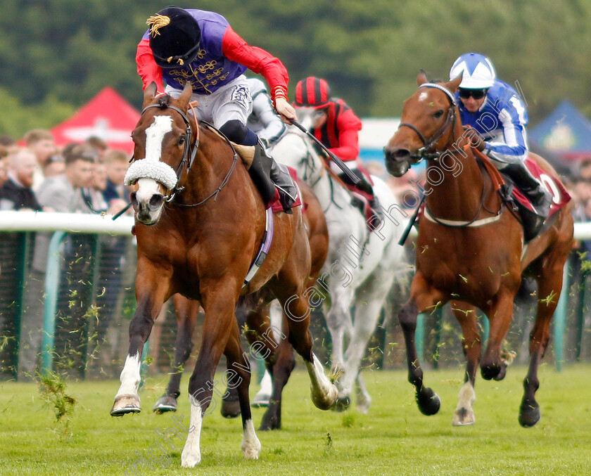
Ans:
[[[526,108],[521,100],[512,96],[509,101],[499,101],[499,121],[502,136],[485,143],[485,150],[495,160],[507,164],[519,164],[528,156]]]

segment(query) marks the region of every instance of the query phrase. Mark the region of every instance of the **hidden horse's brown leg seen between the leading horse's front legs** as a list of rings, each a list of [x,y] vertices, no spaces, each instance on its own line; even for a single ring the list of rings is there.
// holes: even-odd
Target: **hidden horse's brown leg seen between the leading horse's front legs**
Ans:
[[[165,411],[177,411],[177,398],[179,398],[181,376],[186,359],[189,359],[191,349],[193,349],[193,331],[197,323],[197,314],[199,312],[199,303],[189,300],[182,295],[175,294],[174,310],[177,314],[177,338],[174,341],[174,365],[171,369],[170,380],[166,387],[165,394],[158,399],[154,405],[155,413],[164,413]]]

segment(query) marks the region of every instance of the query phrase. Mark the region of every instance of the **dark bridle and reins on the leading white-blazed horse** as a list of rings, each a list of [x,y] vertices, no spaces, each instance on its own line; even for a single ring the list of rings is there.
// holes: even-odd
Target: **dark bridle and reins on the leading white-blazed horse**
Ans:
[[[191,128],[191,122],[189,122],[189,117],[187,117],[187,115],[182,110],[180,110],[179,108],[177,108],[174,105],[168,105],[165,103],[150,104],[141,110],[141,115],[143,115],[144,112],[146,112],[146,110],[148,110],[150,108],[159,108],[162,110],[172,109],[172,110],[179,113],[179,115],[182,117],[182,120],[185,123],[186,131],[184,134],[183,158],[182,158],[181,162],[179,163],[177,169],[174,171],[175,174],[177,175],[177,183],[174,185],[174,187],[170,191],[167,198],[165,198],[165,201],[167,203],[171,203],[171,205],[176,205],[177,207],[198,207],[199,205],[203,205],[203,203],[207,202],[210,198],[214,198],[214,200],[215,200],[215,198],[217,198],[217,194],[220,193],[222,188],[224,188],[224,186],[226,186],[226,184],[228,183],[230,176],[231,176],[232,172],[234,172],[234,168],[236,167],[236,162],[238,161],[238,153],[236,152],[236,149],[234,149],[234,146],[232,146],[231,142],[229,141],[229,139],[226,136],[224,136],[224,134],[222,134],[220,131],[218,131],[216,129],[217,134],[220,134],[226,140],[226,142],[231,147],[232,152],[234,153],[234,161],[232,162],[229,172],[226,174],[226,176],[222,180],[222,183],[220,184],[220,186],[218,186],[215,189],[215,191],[210,193],[210,195],[205,197],[203,200],[201,200],[197,203],[191,203],[191,204],[173,201],[174,198],[176,198],[177,194],[181,193],[184,190],[184,187],[179,186],[179,181],[181,179],[183,169],[186,167],[186,173],[189,174],[189,170],[191,170],[191,166],[193,165],[193,162],[195,160],[195,156],[197,155],[197,149],[199,147],[199,124],[197,122],[197,116],[195,114],[195,110],[193,109],[193,105],[191,103],[189,104],[189,107],[191,108],[191,112],[193,113],[193,117],[195,118],[195,127],[196,127],[195,143],[192,146],[191,146],[191,138],[193,136],[193,129]],[[201,121],[201,122],[203,122],[203,121]],[[207,124],[207,122],[203,122],[203,123]],[[207,125],[209,127],[212,127],[210,124],[207,124]],[[133,160],[133,157],[132,157],[132,160]]]

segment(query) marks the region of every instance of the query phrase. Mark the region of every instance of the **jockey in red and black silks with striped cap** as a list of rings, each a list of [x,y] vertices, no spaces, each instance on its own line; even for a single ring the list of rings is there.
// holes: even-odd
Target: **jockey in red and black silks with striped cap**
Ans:
[[[310,132],[319,139],[326,148],[345,162],[351,171],[359,176],[362,181],[354,185],[340,168],[333,162],[330,167],[338,177],[353,191],[360,192],[369,201],[374,210],[379,210],[374,191],[371,188],[369,172],[364,169],[358,160],[359,131],[362,123],[355,112],[340,98],[331,97],[329,84],[317,77],[307,77],[295,86],[295,103],[297,108],[312,108],[317,110],[314,115],[314,124]]]

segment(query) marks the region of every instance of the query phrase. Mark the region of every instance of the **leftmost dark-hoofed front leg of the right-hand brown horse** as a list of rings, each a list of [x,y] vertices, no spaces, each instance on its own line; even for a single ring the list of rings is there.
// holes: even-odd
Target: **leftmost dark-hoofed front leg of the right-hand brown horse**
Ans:
[[[402,306],[398,319],[405,336],[407,348],[408,380],[414,386],[415,398],[419,410],[424,415],[435,415],[439,411],[440,399],[438,395],[423,385],[423,370],[419,363],[417,344],[414,333],[417,330],[417,316],[421,312],[433,311],[436,307],[443,306],[447,298],[443,293],[431,288],[420,271],[412,280],[410,299]]]

